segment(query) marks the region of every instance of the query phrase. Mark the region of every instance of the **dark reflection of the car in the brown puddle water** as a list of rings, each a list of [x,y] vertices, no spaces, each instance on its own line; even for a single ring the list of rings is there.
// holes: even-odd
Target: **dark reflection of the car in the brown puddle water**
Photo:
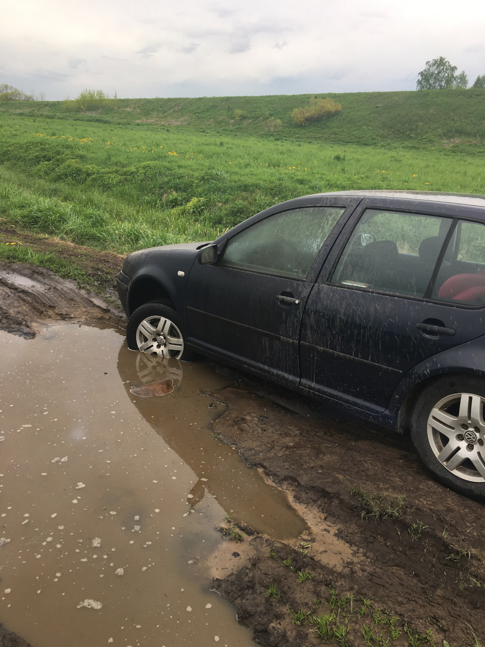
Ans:
[[[233,513],[233,520],[276,539],[296,538],[305,530],[305,522],[286,494],[268,487],[257,470],[248,470],[232,447],[208,433],[210,422],[226,406],[217,393],[203,388],[220,389],[227,384],[221,377],[219,384],[214,384],[215,370],[208,362],[182,364],[135,353],[123,345],[118,371],[138,411],[199,477],[188,495],[192,509],[210,494],[226,512]],[[162,403],[156,397],[168,394]]]

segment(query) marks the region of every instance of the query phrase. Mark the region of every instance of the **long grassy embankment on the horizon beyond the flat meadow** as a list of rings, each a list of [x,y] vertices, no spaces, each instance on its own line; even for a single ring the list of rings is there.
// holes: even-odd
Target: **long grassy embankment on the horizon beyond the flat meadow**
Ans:
[[[468,153],[485,145],[485,90],[318,94],[331,96],[341,112],[307,127],[296,126],[292,110],[308,104],[309,94],[170,99],[122,99],[115,108],[72,113],[63,102],[4,102],[1,115],[98,122],[153,131],[191,131],[295,139],[360,146],[445,146]],[[282,122],[267,131],[264,122]]]

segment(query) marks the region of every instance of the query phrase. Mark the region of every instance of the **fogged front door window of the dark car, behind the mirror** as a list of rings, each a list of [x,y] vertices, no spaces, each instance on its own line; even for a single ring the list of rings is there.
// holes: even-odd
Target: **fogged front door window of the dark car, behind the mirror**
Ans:
[[[260,220],[233,236],[220,264],[305,278],[344,208],[310,206]]]

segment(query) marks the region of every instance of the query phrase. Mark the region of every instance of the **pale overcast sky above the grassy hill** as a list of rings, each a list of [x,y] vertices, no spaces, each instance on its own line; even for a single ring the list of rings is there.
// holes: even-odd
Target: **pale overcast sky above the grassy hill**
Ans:
[[[485,74],[478,0],[3,0],[0,83],[74,98],[414,90]]]

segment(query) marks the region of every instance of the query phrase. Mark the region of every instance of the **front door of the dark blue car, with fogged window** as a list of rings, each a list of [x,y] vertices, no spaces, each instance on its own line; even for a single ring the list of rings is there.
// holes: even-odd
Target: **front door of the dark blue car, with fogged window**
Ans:
[[[187,290],[190,343],[276,380],[299,382],[303,306],[343,226],[349,197],[308,199],[235,228],[214,264],[195,263]]]

